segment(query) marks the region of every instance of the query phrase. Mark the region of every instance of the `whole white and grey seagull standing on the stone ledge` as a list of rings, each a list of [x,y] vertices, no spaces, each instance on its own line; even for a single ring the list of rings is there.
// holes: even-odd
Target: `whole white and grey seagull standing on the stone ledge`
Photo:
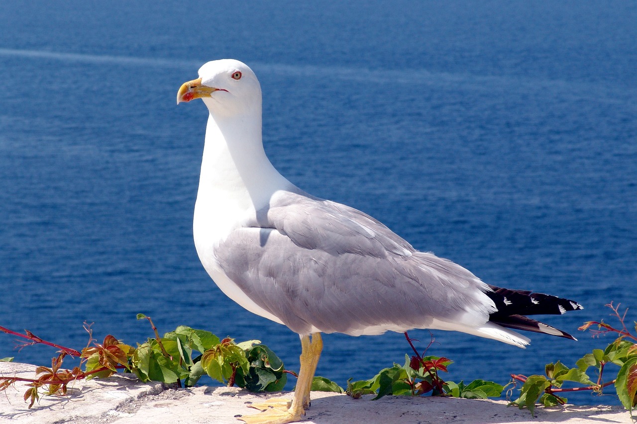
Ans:
[[[261,85],[238,60],[207,62],[177,103],[210,113],[193,233],[222,292],[301,338],[294,397],[257,406],[248,424],[301,420],[310,406],[321,333],[351,336],[454,330],[524,348],[529,330],[575,339],[527,315],[582,309],[568,299],[483,283],[411,244],[371,216],[308,194],[276,171],[263,148]]]

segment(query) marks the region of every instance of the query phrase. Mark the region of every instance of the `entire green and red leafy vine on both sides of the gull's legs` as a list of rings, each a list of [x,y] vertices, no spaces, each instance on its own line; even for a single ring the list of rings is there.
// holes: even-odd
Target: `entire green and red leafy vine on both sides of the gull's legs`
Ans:
[[[524,376],[512,374],[512,381],[499,385],[493,381],[477,379],[465,384],[445,381],[443,373],[453,361],[445,357],[426,355],[434,343],[433,337],[422,353],[415,348],[412,339],[404,334],[413,355],[405,355],[403,364],[394,364],[382,369],[368,380],[347,381],[345,388],[334,381],[317,376],[312,390],[347,393],[354,398],[375,395],[380,399],[385,395],[433,395],[487,399],[501,397],[506,389],[507,398],[512,399],[514,390],[519,388],[517,398],[510,404],[526,407],[534,414],[536,404],[543,406],[563,405],[568,392],[589,390],[603,393],[608,386],[615,392],[626,409],[632,414],[637,404],[637,323],[636,334],[626,327],[626,312],[619,312],[612,304],[607,305],[619,326],[613,327],[604,321],[584,323],[580,330],[590,330],[594,337],[615,334],[617,337],[604,349],[595,349],[567,367],[562,362],[547,364],[545,375]],[[59,351],[52,358],[51,366],[36,368],[36,378],[0,376],[0,392],[17,381],[27,382],[24,399],[29,408],[43,395],[66,395],[69,383],[78,379],[106,378],[116,372],[132,372],[141,381],[161,381],[178,387],[194,386],[199,379],[208,375],[228,386],[237,385],[252,392],[276,392],[283,390],[288,374],[282,360],[268,346],[258,340],[235,343],[234,339],[220,339],[209,331],[180,326],[171,332],[159,335],[152,319],[138,314],[138,320],[147,320],[154,331],[150,337],[136,347],[106,336],[101,343],[92,337],[91,325],[84,328],[89,334],[89,343],[81,351],[45,341],[29,331],[24,333],[0,327],[0,331],[25,339],[22,346],[46,344]],[[64,358],[80,358],[80,365],[64,369]],[[10,361],[13,358],[4,358]],[[615,367],[617,374],[607,380],[609,367]],[[615,372],[613,371],[613,372]],[[592,377],[589,375],[593,372]]]

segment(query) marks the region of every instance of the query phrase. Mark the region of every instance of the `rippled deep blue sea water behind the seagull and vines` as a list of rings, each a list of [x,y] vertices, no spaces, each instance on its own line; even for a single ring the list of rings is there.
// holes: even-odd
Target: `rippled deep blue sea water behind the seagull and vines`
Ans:
[[[233,57],[261,80],[266,152],[296,185],[490,284],[585,306],[545,317],[578,342],[435,332],[451,379],[572,365],[611,340],[582,322],[637,307],[635,22],[634,1],[3,2],[0,325],[82,348],[94,322],[134,344],[145,313],[261,339],[297,369],[298,337],[220,293],[192,243],[207,112],[175,94]],[[0,357],[54,355],[13,340]],[[395,333],[324,341],[318,374],[341,385],[410,353]]]

